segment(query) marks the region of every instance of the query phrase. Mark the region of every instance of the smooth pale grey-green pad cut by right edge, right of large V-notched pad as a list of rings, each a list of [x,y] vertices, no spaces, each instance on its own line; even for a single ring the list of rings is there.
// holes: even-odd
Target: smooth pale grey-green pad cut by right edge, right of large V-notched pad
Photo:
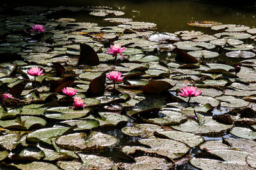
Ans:
[[[246,127],[233,127],[233,129],[230,131],[230,134],[244,139],[256,139],[256,132]]]

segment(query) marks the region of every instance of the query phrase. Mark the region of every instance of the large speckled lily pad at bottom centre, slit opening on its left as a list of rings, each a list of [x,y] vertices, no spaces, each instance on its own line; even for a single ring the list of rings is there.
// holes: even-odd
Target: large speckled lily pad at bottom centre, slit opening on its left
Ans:
[[[140,139],[139,142],[143,145],[150,146],[150,148],[142,146],[124,146],[122,151],[127,154],[136,153],[136,151],[156,153],[157,155],[168,157],[169,159],[180,158],[189,151],[189,146],[171,139],[150,138]]]

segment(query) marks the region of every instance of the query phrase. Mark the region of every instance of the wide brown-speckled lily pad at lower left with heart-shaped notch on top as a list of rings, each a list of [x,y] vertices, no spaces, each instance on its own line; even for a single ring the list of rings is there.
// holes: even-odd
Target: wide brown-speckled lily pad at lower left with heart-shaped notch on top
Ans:
[[[56,141],[56,144],[62,148],[85,151],[101,150],[116,145],[116,143],[118,143],[118,139],[101,132],[92,132],[87,138],[84,133],[67,134]]]

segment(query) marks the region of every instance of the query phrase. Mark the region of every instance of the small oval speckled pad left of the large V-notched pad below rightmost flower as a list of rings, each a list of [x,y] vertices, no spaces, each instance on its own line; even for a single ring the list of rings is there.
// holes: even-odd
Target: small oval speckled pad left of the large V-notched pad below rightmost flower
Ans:
[[[152,124],[138,124],[133,126],[127,126],[122,129],[124,134],[129,136],[150,137],[154,135],[154,132],[163,132],[164,129],[158,125]]]

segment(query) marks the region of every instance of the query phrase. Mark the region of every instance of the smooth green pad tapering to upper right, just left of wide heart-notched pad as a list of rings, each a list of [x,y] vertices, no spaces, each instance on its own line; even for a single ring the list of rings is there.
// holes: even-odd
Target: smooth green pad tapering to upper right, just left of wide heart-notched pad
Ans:
[[[70,127],[50,127],[39,129],[33,132],[30,132],[27,136],[28,141],[32,142],[40,142],[43,141],[45,143],[49,143],[51,145],[51,139],[61,136],[65,132],[67,132]]]

